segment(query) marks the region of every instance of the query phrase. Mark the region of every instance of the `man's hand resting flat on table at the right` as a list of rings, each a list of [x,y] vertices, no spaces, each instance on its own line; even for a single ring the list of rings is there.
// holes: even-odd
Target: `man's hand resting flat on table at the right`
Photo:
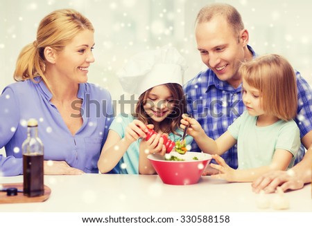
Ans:
[[[265,193],[272,193],[276,191],[277,187],[281,187],[283,191],[302,189],[304,181],[289,170],[270,171],[252,182],[252,191],[256,193],[261,190]]]

